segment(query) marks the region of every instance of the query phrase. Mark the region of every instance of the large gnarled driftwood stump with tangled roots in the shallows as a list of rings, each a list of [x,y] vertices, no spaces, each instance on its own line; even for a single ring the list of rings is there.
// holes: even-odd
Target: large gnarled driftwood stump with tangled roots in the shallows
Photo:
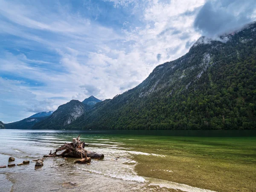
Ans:
[[[93,151],[87,151],[84,149],[85,145],[88,144],[80,141],[80,135],[77,138],[73,138],[72,143],[65,143],[61,147],[57,148],[54,153],[50,151],[49,155],[44,155],[44,157],[81,157],[87,158],[91,157],[93,159],[103,159],[104,154],[98,154]],[[65,151],[63,151],[65,150]],[[63,151],[61,154],[57,154],[58,151]]]

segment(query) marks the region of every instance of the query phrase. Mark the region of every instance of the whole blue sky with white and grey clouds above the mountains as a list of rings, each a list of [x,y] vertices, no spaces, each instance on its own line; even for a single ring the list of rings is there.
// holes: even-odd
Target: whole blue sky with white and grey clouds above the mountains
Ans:
[[[0,0],[0,120],[111,99],[254,20],[254,0]]]

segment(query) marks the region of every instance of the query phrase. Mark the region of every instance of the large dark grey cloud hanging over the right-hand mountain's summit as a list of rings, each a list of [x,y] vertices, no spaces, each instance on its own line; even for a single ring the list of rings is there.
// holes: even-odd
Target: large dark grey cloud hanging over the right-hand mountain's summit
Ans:
[[[253,21],[255,0],[208,0],[195,18],[194,27],[205,36],[221,35]]]

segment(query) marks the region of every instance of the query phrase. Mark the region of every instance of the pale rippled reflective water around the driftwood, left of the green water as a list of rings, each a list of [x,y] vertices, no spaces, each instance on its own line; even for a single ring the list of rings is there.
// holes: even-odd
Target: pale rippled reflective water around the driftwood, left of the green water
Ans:
[[[64,142],[71,142],[81,134],[89,143],[87,150],[105,155],[104,160],[92,160],[90,165],[74,164],[73,158],[47,158],[42,168],[35,163],[0,169],[1,192],[24,191],[210,191],[170,181],[141,177],[134,169],[134,155],[165,157],[164,154],[140,151],[139,140],[131,143],[131,135],[107,132],[54,131],[54,130],[0,130],[0,166],[8,164],[10,156],[15,162],[41,158]],[[157,142],[157,138],[155,142]],[[153,170],[152,170],[153,171]],[[162,170],[161,170],[162,171]],[[172,170],[163,170],[172,172]],[[69,182],[76,182],[70,185]]]

